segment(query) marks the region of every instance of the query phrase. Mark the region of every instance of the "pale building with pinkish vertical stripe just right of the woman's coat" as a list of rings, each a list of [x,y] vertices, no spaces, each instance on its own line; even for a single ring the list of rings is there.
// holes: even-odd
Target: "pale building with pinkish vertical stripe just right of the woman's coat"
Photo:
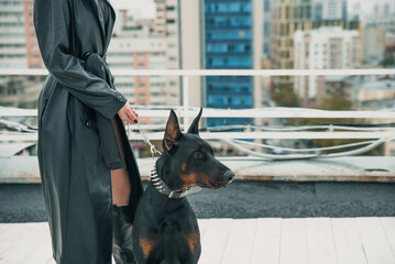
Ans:
[[[110,68],[112,70],[166,68],[166,38],[152,33],[153,21],[134,21],[129,18],[129,14],[121,13],[123,19],[118,21],[121,26],[111,38],[107,53],[107,63]],[[116,78],[117,89],[133,105],[139,106],[179,105],[178,92],[168,89],[168,79],[164,76],[118,76]],[[175,86],[175,84],[171,85]],[[142,121],[163,123],[162,119]]]

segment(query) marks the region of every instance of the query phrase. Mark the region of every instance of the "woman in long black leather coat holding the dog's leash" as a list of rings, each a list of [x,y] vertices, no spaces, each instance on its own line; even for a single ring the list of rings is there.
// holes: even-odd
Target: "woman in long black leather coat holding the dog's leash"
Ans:
[[[50,72],[39,98],[39,163],[58,264],[109,264],[111,251],[117,263],[134,262],[142,185],[122,121],[138,114],[105,63],[114,19],[108,0],[34,1]]]

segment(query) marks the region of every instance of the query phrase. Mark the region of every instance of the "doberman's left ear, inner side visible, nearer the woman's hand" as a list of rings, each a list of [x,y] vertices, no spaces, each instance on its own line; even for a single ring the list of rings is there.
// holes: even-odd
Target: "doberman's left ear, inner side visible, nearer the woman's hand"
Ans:
[[[162,141],[163,150],[167,154],[175,152],[179,145],[179,141],[183,138],[183,133],[179,131],[178,119],[176,113],[171,110],[171,116],[168,117],[165,135]]]

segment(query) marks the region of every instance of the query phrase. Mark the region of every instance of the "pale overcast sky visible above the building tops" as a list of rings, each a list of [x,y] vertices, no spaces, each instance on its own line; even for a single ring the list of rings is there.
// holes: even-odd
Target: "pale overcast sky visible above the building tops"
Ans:
[[[155,4],[153,0],[110,0],[116,9],[124,8],[130,9],[134,14],[139,14],[141,18],[154,18]],[[201,0],[184,0],[184,1],[201,1]],[[394,0],[348,0],[349,11],[352,10],[354,3],[360,2],[363,12],[370,12],[373,10],[374,3],[388,2],[392,11],[395,10]]]

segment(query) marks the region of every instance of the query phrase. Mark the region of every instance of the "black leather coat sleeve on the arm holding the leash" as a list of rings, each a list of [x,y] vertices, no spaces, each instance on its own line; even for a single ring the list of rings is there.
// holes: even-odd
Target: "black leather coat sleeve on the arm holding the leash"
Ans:
[[[73,38],[69,0],[35,0],[34,26],[44,64],[51,75],[85,105],[111,119],[127,99],[106,80],[84,69],[69,54]]]

